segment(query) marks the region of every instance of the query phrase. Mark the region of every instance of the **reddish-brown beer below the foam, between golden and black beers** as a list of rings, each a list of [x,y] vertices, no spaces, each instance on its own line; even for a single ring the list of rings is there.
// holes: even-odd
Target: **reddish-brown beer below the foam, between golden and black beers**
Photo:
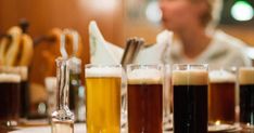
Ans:
[[[162,133],[162,84],[128,84],[129,133]]]

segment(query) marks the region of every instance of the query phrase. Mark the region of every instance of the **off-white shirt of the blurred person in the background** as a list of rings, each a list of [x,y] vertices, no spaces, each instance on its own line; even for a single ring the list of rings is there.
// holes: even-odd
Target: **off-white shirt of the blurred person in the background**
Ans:
[[[181,43],[179,41],[174,41],[167,50],[166,55],[164,55],[164,63],[208,64],[212,69],[232,66],[251,66],[251,59],[247,58],[244,51],[246,52],[246,44],[244,42],[221,30],[216,30],[209,45],[194,59],[188,59],[182,54]]]

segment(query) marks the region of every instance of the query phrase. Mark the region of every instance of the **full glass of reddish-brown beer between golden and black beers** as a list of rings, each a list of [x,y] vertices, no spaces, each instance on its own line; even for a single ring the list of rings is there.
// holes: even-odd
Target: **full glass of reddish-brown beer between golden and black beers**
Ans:
[[[163,66],[127,66],[128,133],[162,133]]]

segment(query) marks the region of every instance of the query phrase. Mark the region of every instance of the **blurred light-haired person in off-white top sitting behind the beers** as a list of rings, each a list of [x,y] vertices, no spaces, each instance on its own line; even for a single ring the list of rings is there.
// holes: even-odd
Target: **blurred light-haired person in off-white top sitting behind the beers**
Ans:
[[[163,25],[174,31],[165,63],[209,64],[209,68],[251,66],[246,44],[216,29],[223,0],[160,0]]]

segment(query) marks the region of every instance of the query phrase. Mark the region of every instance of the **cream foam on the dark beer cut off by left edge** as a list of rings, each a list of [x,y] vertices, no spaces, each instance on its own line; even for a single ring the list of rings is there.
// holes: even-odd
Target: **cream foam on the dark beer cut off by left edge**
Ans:
[[[0,74],[0,82],[21,82],[21,76],[15,74]]]

